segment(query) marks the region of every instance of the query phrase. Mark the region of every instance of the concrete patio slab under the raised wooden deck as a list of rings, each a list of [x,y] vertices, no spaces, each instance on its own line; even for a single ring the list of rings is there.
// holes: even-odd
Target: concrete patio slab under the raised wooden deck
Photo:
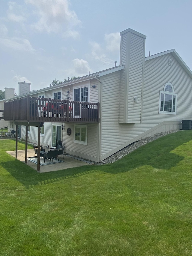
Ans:
[[[15,150],[7,151],[7,153],[12,155],[13,157],[15,157]],[[34,157],[34,149],[28,149],[27,150],[27,158],[28,157]],[[25,163],[25,150],[18,150],[17,159],[19,161],[22,161],[23,163]],[[64,170],[64,169],[79,167],[79,166],[83,166],[83,165],[90,165],[89,163],[77,160],[75,158],[71,158],[67,155],[64,155],[64,159],[63,159],[62,156],[61,156],[61,158],[58,157],[57,159],[59,159],[61,161],[64,161],[64,162],[56,163],[56,164],[41,165],[40,166],[40,173]],[[32,167],[34,170],[37,170],[37,164],[29,161],[28,159],[27,159],[27,165]]]

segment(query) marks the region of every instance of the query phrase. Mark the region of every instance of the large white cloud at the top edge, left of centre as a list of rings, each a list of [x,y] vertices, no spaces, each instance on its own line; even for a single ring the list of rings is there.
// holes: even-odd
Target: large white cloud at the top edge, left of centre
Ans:
[[[68,0],[25,0],[26,4],[35,6],[39,17],[33,27],[39,31],[65,32],[67,36],[76,37],[78,32],[73,27],[80,23],[74,11],[69,10]]]

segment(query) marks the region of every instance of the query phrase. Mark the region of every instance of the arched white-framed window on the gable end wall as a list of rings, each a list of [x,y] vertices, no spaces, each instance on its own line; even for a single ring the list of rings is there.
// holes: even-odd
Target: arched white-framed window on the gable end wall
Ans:
[[[174,93],[173,85],[166,83],[164,91],[160,91],[159,113],[176,114],[177,95]]]

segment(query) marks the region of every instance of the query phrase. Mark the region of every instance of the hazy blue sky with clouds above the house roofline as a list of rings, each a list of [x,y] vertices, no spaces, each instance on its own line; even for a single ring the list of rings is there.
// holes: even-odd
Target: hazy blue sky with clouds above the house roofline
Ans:
[[[145,56],[175,49],[192,70],[191,0],[1,0],[0,90],[119,65],[120,35],[146,38]]]

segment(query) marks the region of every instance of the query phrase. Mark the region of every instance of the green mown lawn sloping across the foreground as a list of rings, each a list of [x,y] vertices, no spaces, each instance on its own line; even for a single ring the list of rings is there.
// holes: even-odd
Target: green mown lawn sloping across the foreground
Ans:
[[[0,141],[0,255],[192,255],[192,131],[37,173]],[[19,143],[24,149],[24,143]]]

